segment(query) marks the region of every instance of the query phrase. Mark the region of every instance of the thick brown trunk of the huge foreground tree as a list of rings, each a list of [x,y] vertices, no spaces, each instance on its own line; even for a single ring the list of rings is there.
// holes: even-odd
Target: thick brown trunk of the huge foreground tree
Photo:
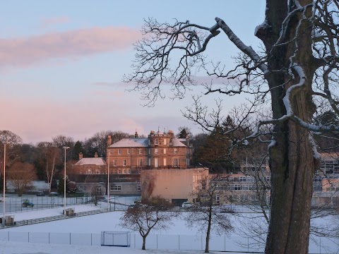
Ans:
[[[290,92],[289,99],[293,114],[308,122],[315,110],[310,99],[314,75],[311,66],[311,26],[307,21],[299,23],[302,13],[297,14],[290,20],[290,29],[283,42],[292,40],[296,34],[297,40],[292,40],[285,46],[274,47],[287,16],[288,6],[287,1],[267,0],[266,3],[266,20],[270,26],[262,28],[257,35],[266,45],[266,50],[272,52],[268,68],[270,71],[290,68],[294,74],[292,80],[290,74],[283,72],[271,73],[267,78],[268,85],[273,89],[273,118],[279,119],[287,114],[283,97],[289,94],[288,89],[292,85],[304,82],[304,85]],[[311,0],[301,0],[299,3],[304,6],[311,3]],[[306,13],[311,15],[311,8]],[[300,78],[300,73],[291,67],[292,62],[302,67],[305,78]],[[286,85],[280,86],[283,84]],[[309,248],[312,179],[316,168],[309,131],[295,121],[287,120],[276,125],[275,132],[275,143],[269,150],[272,210],[265,253],[306,254]]]

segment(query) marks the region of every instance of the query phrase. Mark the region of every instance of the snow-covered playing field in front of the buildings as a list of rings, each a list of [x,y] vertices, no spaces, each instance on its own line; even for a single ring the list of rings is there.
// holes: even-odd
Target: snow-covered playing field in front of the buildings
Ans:
[[[132,202],[133,200],[126,200]],[[106,206],[105,206],[106,205]],[[89,210],[107,207],[107,203],[99,206],[76,205],[75,212],[85,212]],[[184,213],[184,212],[183,212]],[[35,219],[41,217],[51,217],[62,214],[62,207],[49,210],[37,210],[31,212],[19,212],[15,214],[15,220]],[[85,217],[71,219],[61,219],[54,222],[45,222],[27,226],[17,226],[0,230],[1,253],[16,254],[54,254],[54,253],[145,253],[140,250],[141,237],[137,233],[131,235],[131,247],[109,247],[100,246],[100,234],[102,231],[126,231],[119,226],[119,218],[123,212],[107,212],[93,214]],[[251,216],[247,214],[247,216]],[[239,226],[244,218],[231,215],[232,224]],[[173,224],[167,231],[153,231],[146,240],[146,253],[197,253],[204,248],[204,237],[195,229],[186,226],[182,217],[173,219]],[[317,219],[318,224],[328,224],[335,222],[332,217]],[[9,241],[8,241],[9,238]],[[322,238],[321,246],[310,243],[310,253],[338,253],[338,239],[326,241]],[[30,243],[27,243],[27,242]],[[249,243],[250,238],[237,236],[237,229],[231,236],[212,236],[210,249],[218,251],[248,251],[249,248],[239,247],[236,242]],[[25,242],[25,243],[23,243]],[[328,246],[325,248],[324,246]],[[218,251],[217,251],[218,250]]]

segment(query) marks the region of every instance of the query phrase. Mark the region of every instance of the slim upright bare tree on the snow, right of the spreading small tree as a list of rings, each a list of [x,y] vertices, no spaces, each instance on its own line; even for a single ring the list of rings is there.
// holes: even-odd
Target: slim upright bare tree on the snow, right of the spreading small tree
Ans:
[[[206,234],[205,253],[210,252],[209,243],[210,233],[212,231],[218,235],[222,235],[233,229],[229,214],[220,213],[220,211],[214,209],[215,205],[217,205],[216,196],[222,195],[222,192],[220,192],[218,188],[218,181],[220,181],[220,179],[222,179],[220,176],[215,175],[209,179],[202,180],[203,188],[192,193],[192,195],[198,197],[199,202],[196,202],[193,207],[190,207],[190,212],[184,217],[187,226],[194,226]]]

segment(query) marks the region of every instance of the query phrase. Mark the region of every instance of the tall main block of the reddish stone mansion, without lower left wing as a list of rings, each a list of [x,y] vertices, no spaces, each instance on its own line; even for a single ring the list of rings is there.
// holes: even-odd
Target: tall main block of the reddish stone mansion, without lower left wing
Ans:
[[[150,131],[148,138],[124,138],[117,143],[108,137],[109,174],[140,174],[143,169],[187,169],[191,160],[189,139],[173,131]]]

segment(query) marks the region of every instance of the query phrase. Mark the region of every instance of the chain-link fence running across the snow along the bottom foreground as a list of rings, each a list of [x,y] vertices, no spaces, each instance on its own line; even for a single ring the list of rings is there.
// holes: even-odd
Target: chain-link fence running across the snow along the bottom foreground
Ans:
[[[70,245],[100,246],[100,234],[41,233],[0,231],[0,241],[18,241],[26,243],[59,243]],[[253,249],[255,238],[240,236],[211,236],[210,250],[233,253],[263,253],[263,248]],[[142,238],[131,234],[131,248],[141,248]],[[205,250],[205,236],[188,235],[149,235],[146,239],[148,249],[166,250]],[[309,253],[338,253],[338,238],[315,238],[309,244]]]

